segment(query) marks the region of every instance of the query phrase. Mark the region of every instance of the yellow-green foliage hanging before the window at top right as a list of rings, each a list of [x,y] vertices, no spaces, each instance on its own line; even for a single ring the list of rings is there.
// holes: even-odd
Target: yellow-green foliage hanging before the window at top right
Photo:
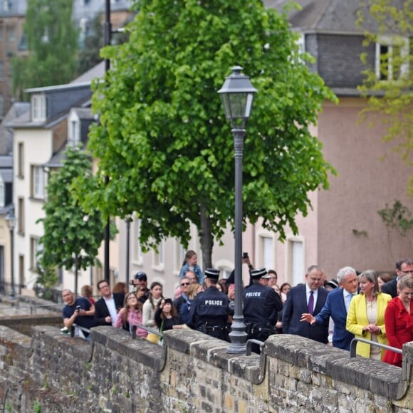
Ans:
[[[380,56],[380,75],[377,76],[374,67],[365,70],[360,90],[369,105],[362,115],[376,113],[386,127],[384,140],[396,142],[395,150],[412,164],[413,0],[364,0],[358,15],[359,25],[366,19],[372,19],[377,30],[365,32],[365,46],[382,43],[385,48]],[[367,53],[362,54],[362,61],[367,61]],[[410,191],[413,193],[413,182]]]

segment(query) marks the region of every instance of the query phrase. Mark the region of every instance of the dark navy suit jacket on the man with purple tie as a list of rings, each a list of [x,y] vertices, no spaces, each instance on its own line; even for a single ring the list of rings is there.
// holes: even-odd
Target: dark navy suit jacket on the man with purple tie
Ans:
[[[324,288],[318,288],[317,303],[313,315],[320,313],[328,293]],[[328,320],[317,325],[301,322],[301,314],[308,313],[305,284],[291,288],[283,310],[283,333],[300,335],[320,343],[328,342]]]

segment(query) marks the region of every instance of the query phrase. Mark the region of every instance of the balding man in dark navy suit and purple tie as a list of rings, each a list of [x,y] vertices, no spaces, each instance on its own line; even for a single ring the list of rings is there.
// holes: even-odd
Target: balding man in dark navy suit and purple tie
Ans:
[[[318,325],[300,323],[303,313],[317,315],[327,299],[323,286],[323,270],[310,266],[305,274],[305,284],[291,288],[283,310],[283,333],[300,335],[311,340],[327,343],[328,320]]]

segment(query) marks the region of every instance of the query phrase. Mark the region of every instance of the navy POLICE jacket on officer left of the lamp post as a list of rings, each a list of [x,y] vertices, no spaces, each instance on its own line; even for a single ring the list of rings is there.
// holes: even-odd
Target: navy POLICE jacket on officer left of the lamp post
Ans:
[[[196,329],[202,325],[225,326],[229,314],[228,303],[228,297],[218,291],[218,288],[206,288],[195,297],[187,325]]]

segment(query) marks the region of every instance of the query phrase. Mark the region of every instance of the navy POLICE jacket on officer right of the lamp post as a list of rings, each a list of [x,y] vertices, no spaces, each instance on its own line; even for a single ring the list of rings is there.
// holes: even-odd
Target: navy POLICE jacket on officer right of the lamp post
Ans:
[[[244,288],[244,318],[246,323],[267,327],[276,325],[283,302],[273,288],[253,283]]]

